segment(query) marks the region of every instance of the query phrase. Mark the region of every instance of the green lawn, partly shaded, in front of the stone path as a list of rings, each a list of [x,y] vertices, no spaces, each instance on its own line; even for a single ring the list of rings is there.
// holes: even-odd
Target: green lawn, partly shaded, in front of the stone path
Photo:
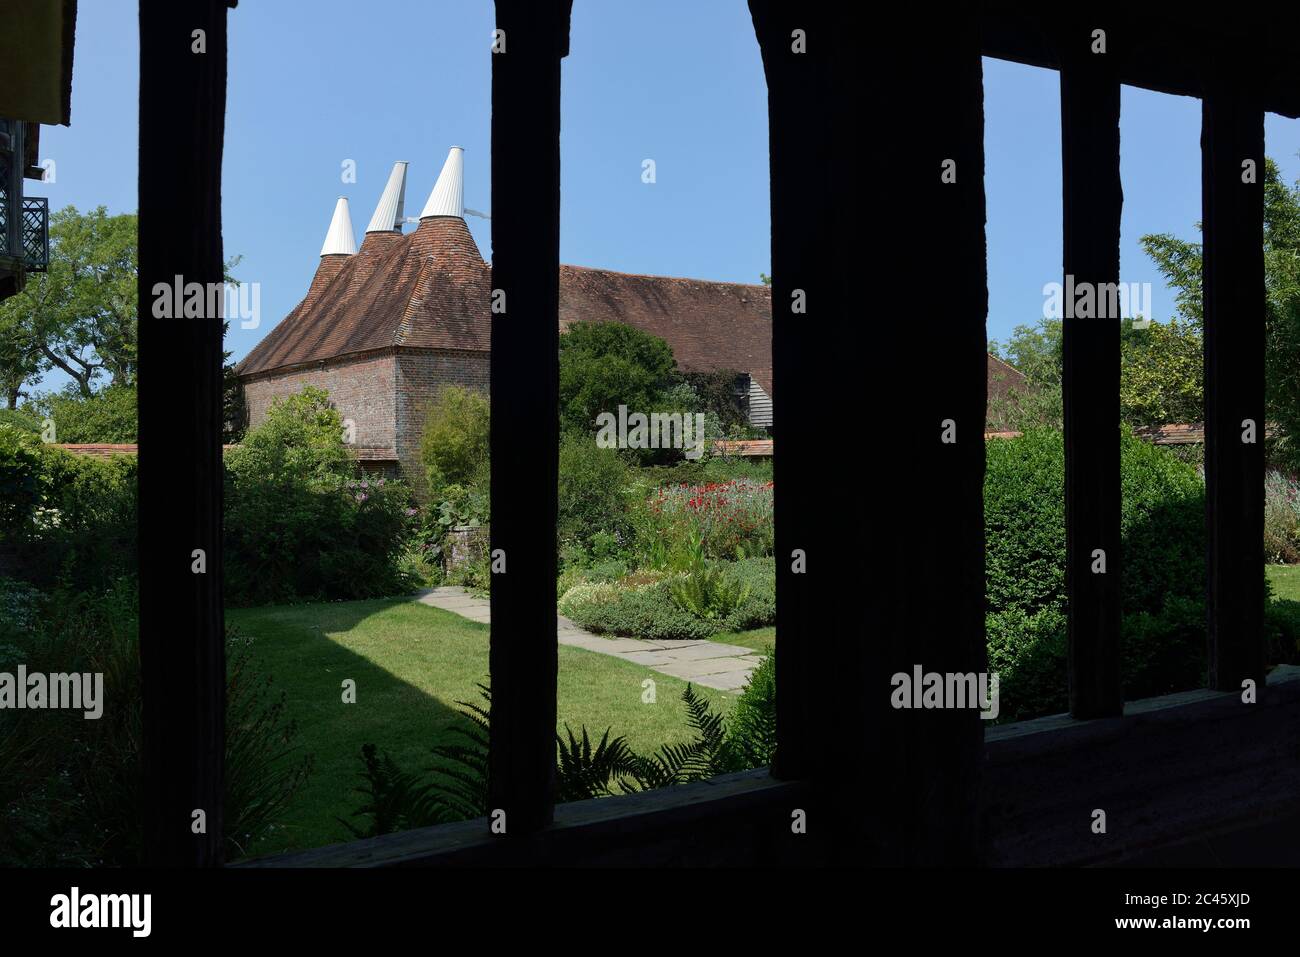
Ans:
[[[361,745],[426,768],[430,746],[462,720],[456,701],[477,701],[474,685],[488,680],[488,625],[406,598],[231,609],[226,622],[254,640],[256,667],[286,692],[299,741],[315,754],[311,778],[255,856],[350,840],[337,818],[361,802]],[[644,753],[689,737],[685,681],[581,649],[559,654],[560,727],[586,724],[597,737],[612,727]],[[646,677],[655,681],[653,705],[642,703]],[[356,681],[355,705],[342,702],[344,679]],[[736,698],[698,690],[723,710]]]

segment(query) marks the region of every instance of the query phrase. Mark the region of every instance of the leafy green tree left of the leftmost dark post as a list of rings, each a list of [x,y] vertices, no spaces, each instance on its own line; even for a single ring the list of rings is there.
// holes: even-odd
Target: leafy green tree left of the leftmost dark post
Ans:
[[[75,207],[49,221],[49,269],[0,303],[0,386],[9,407],[22,386],[57,368],[90,398],[103,376],[130,384],[136,361],[138,243],[134,213]]]

